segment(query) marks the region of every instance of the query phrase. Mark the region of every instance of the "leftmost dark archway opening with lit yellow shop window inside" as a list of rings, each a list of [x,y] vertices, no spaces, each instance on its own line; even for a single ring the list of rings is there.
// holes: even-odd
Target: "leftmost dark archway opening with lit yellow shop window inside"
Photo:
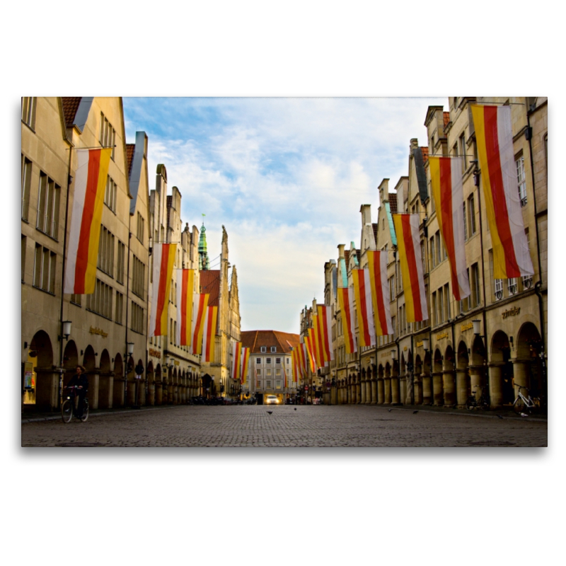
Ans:
[[[59,376],[53,371],[53,347],[45,330],[38,330],[30,342],[28,362],[33,366],[32,391],[25,395],[30,405],[50,410],[59,404]]]

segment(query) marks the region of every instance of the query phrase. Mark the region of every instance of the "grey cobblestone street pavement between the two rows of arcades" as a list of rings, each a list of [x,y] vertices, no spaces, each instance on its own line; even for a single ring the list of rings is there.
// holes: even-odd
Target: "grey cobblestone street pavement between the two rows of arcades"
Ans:
[[[295,410],[296,409],[296,410]],[[268,411],[271,411],[270,414]],[[54,416],[54,415],[53,415]],[[177,405],[22,423],[22,446],[547,446],[547,422],[379,406]]]

